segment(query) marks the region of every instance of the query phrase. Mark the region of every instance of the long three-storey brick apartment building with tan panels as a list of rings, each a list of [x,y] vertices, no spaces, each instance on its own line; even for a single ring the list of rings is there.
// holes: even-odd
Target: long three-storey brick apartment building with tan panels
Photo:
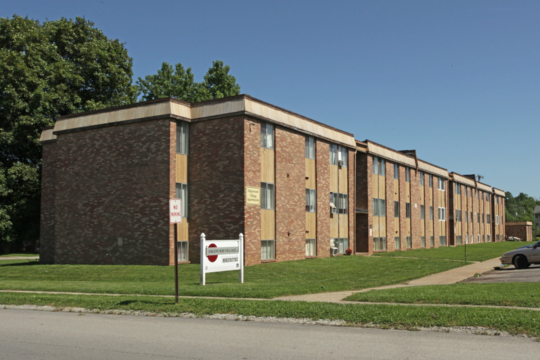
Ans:
[[[170,198],[182,263],[201,233],[244,234],[247,265],[504,239],[503,192],[245,95],[64,116],[40,143],[42,263],[173,264]]]

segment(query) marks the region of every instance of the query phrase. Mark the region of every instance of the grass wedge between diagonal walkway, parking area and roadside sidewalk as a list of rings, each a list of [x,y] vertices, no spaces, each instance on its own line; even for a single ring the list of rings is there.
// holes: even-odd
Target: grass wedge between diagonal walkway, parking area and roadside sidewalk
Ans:
[[[538,283],[456,283],[386,290],[370,290],[347,297],[348,301],[402,304],[498,305],[540,308]],[[538,315],[537,315],[538,316]]]

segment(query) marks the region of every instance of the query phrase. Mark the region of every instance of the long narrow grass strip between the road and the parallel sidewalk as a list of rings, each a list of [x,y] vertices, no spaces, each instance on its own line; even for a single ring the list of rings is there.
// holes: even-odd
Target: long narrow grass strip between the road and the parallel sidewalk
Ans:
[[[174,298],[148,296],[56,295],[0,293],[0,304],[50,305],[61,310],[80,307],[98,311],[144,311],[178,316],[236,314],[310,320],[342,320],[355,326],[418,329],[431,327],[481,327],[540,337],[538,312],[494,308],[456,308],[444,306],[333,304],[319,302],[220,300],[209,298]],[[477,330],[482,333],[482,330]]]

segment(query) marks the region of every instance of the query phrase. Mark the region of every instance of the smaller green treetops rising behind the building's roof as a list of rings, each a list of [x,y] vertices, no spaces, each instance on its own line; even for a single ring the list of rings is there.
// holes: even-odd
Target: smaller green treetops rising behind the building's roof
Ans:
[[[193,80],[191,67],[184,70],[180,63],[163,63],[157,74],[147,75],[137,80],[139,94],[143,100],[177,98],[197,103],[198,101],[219,99],[240,93],[236,78],[229,74],[230,66],[222,61],[214,61],[204,76],[204,81]]]

